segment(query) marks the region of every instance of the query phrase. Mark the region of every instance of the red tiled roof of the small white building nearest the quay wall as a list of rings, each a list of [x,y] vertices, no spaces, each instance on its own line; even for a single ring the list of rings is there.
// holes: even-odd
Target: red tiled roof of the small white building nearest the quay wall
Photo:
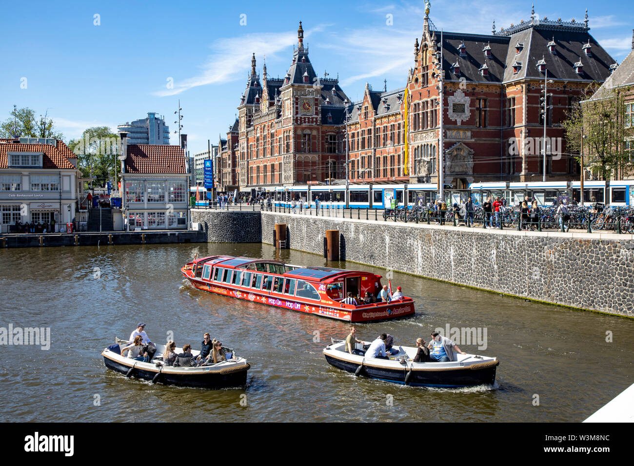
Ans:
[[[186,173],[181,146],[129,144],[126,173]]]

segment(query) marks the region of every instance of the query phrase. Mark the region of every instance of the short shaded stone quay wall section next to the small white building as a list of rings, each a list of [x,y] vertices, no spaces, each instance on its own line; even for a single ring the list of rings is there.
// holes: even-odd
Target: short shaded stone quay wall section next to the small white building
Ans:
[[[257,210],[191,209],[191,221],[202,223],[208,243],[262,241],[262,223]]]

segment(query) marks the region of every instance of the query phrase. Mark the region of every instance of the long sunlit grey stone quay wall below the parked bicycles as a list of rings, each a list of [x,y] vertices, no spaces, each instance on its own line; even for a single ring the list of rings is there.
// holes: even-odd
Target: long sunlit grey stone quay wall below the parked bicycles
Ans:
[[[276,223],[291,249],[323,254],[339,230],[342,260],[515,295],[632,316],[632,235],[483,230],[262,212],[262,242]]]

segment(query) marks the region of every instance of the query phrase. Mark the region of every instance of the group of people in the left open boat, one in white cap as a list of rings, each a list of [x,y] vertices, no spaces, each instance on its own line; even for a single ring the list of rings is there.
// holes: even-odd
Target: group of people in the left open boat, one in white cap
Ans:
[[[145,333],[145,323],[140,322],[136,330],[130,334],[129,344],[121,349],[121,356],[128,352],[127,357],[135,361],[148,363],[152,361],[157,351],[156,345],[148,338]],[[183,346],[181,353],[176,353],[176,343],[169,340],[165,345],[165,351],[162,354],[163,365],[174,367],[200,367],[209,366],[221,361],[231,359],[233,354],[226,353],[223,344],[212,339],[209,332],[205,332],[203,340],[200,344],[200,354],[194,356],[191,353],[191,345]]]

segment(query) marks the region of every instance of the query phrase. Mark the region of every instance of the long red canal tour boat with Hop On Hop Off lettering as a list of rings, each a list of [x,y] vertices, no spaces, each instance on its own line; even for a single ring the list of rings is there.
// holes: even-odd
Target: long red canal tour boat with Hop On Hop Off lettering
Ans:
[[[380,292],[381,276],[370,272],[231,256],[194,259],[181,271],[199,290],[332,319],[366,322],[414,313],[414,301],[408,297],[358,306],[343,304],[347,292],[359,303],[358,296],[366,291],[375,296]]]

